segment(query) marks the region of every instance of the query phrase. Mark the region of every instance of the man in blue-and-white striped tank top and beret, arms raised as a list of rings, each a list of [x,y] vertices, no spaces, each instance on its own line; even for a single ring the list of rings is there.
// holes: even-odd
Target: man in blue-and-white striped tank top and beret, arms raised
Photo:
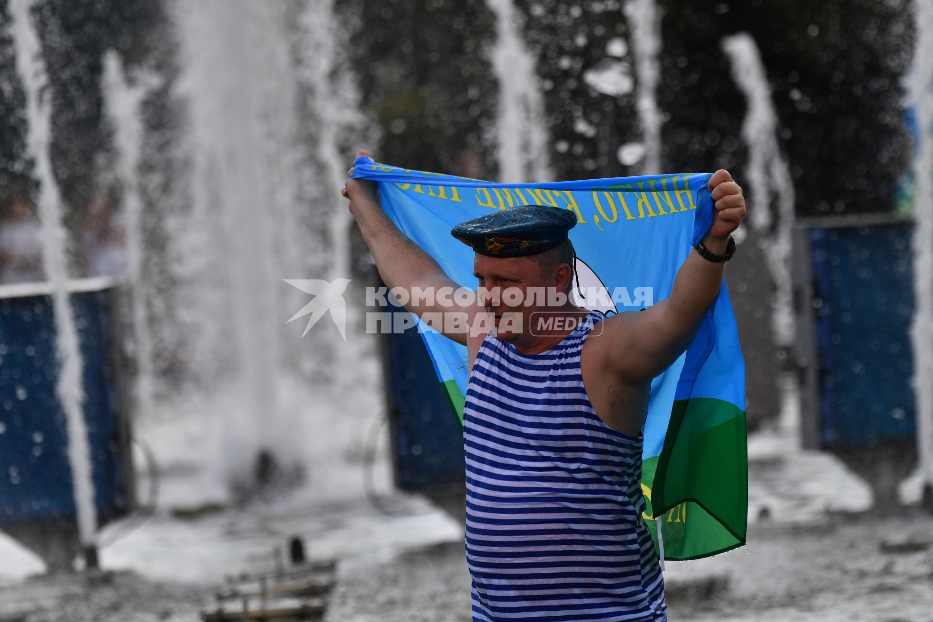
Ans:
[[[567,231],[576,218],[540,206],[453,229],[476,251],[478,305],[409,297],[407,309],[418,316],[454,312],[467,326],[491,325],[445,326],[468,352],[466,559],[474,620],[666,619],[659,560],[642,517],[642,426],[651,380],[689,346],[734,253],[730,234],[745,217],[742,189],[729,173],[717,171],[709,188],[712,226],[671,296],[641,312],[603,319],[574,304]],[[348,179],[342,194],[386,285],[457,288],[383,214],[372,182]],[[530,295],[541,288],[548,296]],[[570,321],[541,321],[554,316]]]

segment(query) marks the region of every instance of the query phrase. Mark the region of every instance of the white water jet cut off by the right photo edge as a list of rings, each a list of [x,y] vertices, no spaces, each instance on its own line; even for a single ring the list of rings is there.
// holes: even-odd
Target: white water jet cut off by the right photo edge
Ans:
[[[933,486],[933,5],[913,3],[916,43],[910,99],[917,114],[918,157],[913,214],[913,295],[911,326],[913,390],[917,396],[917,445],[926,484]]]

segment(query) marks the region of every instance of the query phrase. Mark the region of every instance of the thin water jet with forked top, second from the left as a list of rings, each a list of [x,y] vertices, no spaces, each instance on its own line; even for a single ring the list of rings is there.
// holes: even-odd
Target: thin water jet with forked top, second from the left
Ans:
[[[123,185],[123,209],[126,214],[128,273],[132,288],[132,329],[137,361],[137,408],[146,412],[152,402],[152,338],[146,311],[146,280],[143,278],[144,242],[142,200],[139,196],[137,167],[143,142],[140,104],[153,86],[152,76],[131,85],[124,76],[123,62],[117,52],[104,55],[104,103],[114,127],[118,152],[119,176]]]

